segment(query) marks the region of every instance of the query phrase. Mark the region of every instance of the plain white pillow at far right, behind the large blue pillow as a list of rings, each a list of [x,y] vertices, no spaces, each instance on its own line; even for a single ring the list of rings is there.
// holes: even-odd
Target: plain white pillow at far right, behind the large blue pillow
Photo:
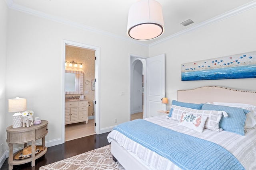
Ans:
[[[213,104],[216,105],[222,105],[222,106],[230,106],[230,107],[238,107],[242,109],[249,110],[250,112],[246,114],[246,119],[244,123],[245,128],[252,128],[256,126],[256,106],[250,105],[250,104],[242,104],[242,103],[224,103],[224,102],[213,102]],[[245,129],[246,131],[246,129]]]

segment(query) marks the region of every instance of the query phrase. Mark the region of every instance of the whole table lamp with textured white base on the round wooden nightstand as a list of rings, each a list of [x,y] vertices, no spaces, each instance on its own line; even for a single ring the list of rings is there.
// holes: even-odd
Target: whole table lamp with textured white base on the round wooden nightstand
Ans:
[[[22,127],[22,114],[20,111],[25,111],[27,109],[26,98],[16,98],[9,99],[9,112],[16,112],[12,115],[12,127]]]

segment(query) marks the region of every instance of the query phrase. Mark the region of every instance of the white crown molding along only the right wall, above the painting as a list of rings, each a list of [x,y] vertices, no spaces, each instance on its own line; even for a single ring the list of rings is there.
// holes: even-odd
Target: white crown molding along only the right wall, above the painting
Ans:
[[[201,22],[201,23],[199,23],[199,24],[196,24],[196,25],[194,25],[194,26],[192,26],[192,27],[189,27],[189,28],[187,28],[187,29],[184,29],[184,30],[182,30],[182,31],[180,31],[180,32],[178,32],[178,33],[172,34],[172,35],[170,35],[170,36],[168,36],[168,37],[165,37],[165,38],[163,38],[163,39],[160,39],[160,40],[158,40],[158,41],[155,41],[154,43],[151,43],[151,44],[149,45],[149,47],[151,47],[151,46],[153,46],[153,45],[157,45],[157,44],[162,43],[162,42],[164,42],[164,41],[167,41],[167,40],[169,40],[169,39],[173,39],[173,38],[178,37],[178,36],[180,36],[180,35],[184,35],[185,33],[189,33],[189,32],[195,31],[195,30],[197,30],[197,29],[206,27],[206,26],[211,25],[211,24],[213,24],[213,23],[216,23],[216,22],[218,22],[218,21],[225,20],[226,18],[230,18],[230,17],[232,17],[232,16],[235,16],[235,15],[237,15],[237,14],[240,14],[240,13],[242,13],[242,12],[245,12],[245,11],[250,10],[250,9],[252,9],[252,8],[255,8],[255,7],[256,7],[256,0],[254,0],[254,1],[252,1],[252,2],[249,2],[249,3],[247,3],[247,4],[244,4],[243,6],[240,6],[240,7],[238,7],[238,8],[235,8],[235,9],[233,9],[233,10],[230,10],[230,11],[228,11],[228,12],[225,12],[225,13],[223,13],[223,14],[221,14],[221,15],[219,15],[219,16],[216,16],[216,17],[214,17],[214,18],[211,18],[211,19],[209,19],[209,20],[206,20],[206,21],[204,21],[204,22]]]

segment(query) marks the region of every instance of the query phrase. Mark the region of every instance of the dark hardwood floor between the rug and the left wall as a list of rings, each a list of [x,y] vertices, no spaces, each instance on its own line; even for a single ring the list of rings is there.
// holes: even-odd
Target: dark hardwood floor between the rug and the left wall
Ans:
[[[36,160],[36,165],[34,167],[31,167],[31,162],[30,162],[22,165],[15,165],[13,169],[14,170],[39,170],[40,166],[51,164],[53,162],[70,158],[72,156],[75,156],[84,152],[88,152],[93,149],[104,147],[106,145],[109,145],[108,139],[107,139],[108,133],[82,137],[80,139],[67,141],[60,145],[48,147],[46,154],[44,154],[44,156]],[[7,159],[5,160],[0,170],[8,170]]]

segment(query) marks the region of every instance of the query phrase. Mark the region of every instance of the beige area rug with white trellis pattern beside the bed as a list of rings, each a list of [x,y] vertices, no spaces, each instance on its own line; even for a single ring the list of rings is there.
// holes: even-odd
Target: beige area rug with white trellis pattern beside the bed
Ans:
[[[107,145],[41,166],[39,170],[124,170],[124,168],[119,162],[113,161],[111,145]]]

